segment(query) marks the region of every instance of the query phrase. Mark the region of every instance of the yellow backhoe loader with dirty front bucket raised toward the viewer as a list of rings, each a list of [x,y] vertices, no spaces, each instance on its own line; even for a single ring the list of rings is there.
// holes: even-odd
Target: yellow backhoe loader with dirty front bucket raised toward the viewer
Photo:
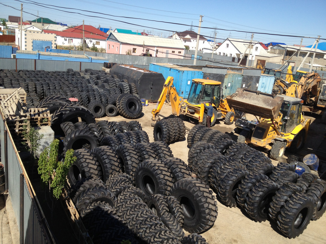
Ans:
[[[272,159],[280,159],[289,148],[298,152],[308,133],[310,119],[302,115],[303,100],[238,88],[227,101],[234,109],[256,116],[237,119],[238,142],[270,149]]]

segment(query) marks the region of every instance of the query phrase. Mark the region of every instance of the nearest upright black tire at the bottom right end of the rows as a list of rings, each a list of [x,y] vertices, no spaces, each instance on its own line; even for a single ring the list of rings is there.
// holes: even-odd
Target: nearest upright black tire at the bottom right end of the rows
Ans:
[[[302,234],[313,217],[313,199],[303,193],[295,193],[281,209],[277,227],[288,238]]]

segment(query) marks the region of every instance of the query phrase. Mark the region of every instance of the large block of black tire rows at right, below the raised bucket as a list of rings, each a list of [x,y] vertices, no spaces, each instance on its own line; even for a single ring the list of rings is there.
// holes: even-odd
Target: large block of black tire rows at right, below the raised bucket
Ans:
[[[220,138],[219,132],[200,126],[191,132],[187,140],[194,144],[189,149],[188,165],[226,206],[243,208],[257,222],[275,221],[289,238],[302,234],[310,220],[325,212],[324,180],[311,173],[299,176],[294,164],[281,162],[274,167],[261,152]]]

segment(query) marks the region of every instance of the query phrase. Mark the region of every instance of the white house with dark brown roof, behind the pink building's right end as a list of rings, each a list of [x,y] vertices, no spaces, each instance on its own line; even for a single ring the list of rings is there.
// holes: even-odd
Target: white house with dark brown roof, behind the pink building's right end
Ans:
[[[169,36],[171,39],[181,40],[183,45],[189,50],[196,50],[196,43],[197,43],[197,33],[194,31],[183,31],[183,32],[176,32],[172,36]],[[198,50],[210,49],[212,52],[212,42],[208,42],[205,37],[202,35],[199,36],[199,43],[198,43]]]

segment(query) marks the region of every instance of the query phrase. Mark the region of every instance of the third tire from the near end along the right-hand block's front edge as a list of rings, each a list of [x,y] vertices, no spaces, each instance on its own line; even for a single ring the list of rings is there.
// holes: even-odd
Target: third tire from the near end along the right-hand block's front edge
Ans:
[[[279,185],[275,182],[262,180],[251,189],[244,204],[245,210],[250,218],[257,222],[267,220],[270,202],[278,188]]]

